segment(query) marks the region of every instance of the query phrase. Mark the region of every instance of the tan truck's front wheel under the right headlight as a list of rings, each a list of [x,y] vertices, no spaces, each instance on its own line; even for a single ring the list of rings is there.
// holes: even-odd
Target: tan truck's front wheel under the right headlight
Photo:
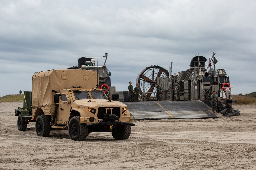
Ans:
[[[112,136],[116,140],[128,139],[131,135],[131,126],[130,125],[122,125],[116,126],[116,132],[112,132]]]

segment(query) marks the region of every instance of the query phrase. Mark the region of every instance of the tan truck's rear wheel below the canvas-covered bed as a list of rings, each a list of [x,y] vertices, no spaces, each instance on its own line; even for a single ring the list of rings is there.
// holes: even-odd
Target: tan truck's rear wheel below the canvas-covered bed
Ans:
[[[51,125],[51,119],[48,115],[39,115],[36,118],[36,134],[38,136],[49,136]]]

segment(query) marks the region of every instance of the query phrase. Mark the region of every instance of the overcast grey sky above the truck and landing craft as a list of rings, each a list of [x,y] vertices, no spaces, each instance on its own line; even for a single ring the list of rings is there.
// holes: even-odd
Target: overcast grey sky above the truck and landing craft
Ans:
[[[32,75],[99,56],[116,91],[159,65],[173,73],[215,52],[233,94],[256,91],[256,1],[0,0],[0,96],[32,90]],[[206,63],[208,64],[208,62]]]

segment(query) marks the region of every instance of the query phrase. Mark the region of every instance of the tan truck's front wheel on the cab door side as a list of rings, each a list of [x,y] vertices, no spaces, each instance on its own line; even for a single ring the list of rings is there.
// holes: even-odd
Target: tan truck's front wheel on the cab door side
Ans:
[[[74,116],[70,119],[68,124],[68,133],[72,140],[84,141],[89,135],[88,128],[84,123],[80,123],[79,118],[79,116]]]

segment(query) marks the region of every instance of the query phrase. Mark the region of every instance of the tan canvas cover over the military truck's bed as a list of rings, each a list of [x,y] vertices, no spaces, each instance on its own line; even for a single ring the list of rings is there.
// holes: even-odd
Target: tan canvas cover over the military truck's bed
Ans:
[[[32,77],[32,106],[49,108],[51,104],[55,104],[55,93],[51,91],[52,89],[59,91],[73,86],[95,88],[96,79],[97,72],[90,70],[63,69],[37,72]]]

